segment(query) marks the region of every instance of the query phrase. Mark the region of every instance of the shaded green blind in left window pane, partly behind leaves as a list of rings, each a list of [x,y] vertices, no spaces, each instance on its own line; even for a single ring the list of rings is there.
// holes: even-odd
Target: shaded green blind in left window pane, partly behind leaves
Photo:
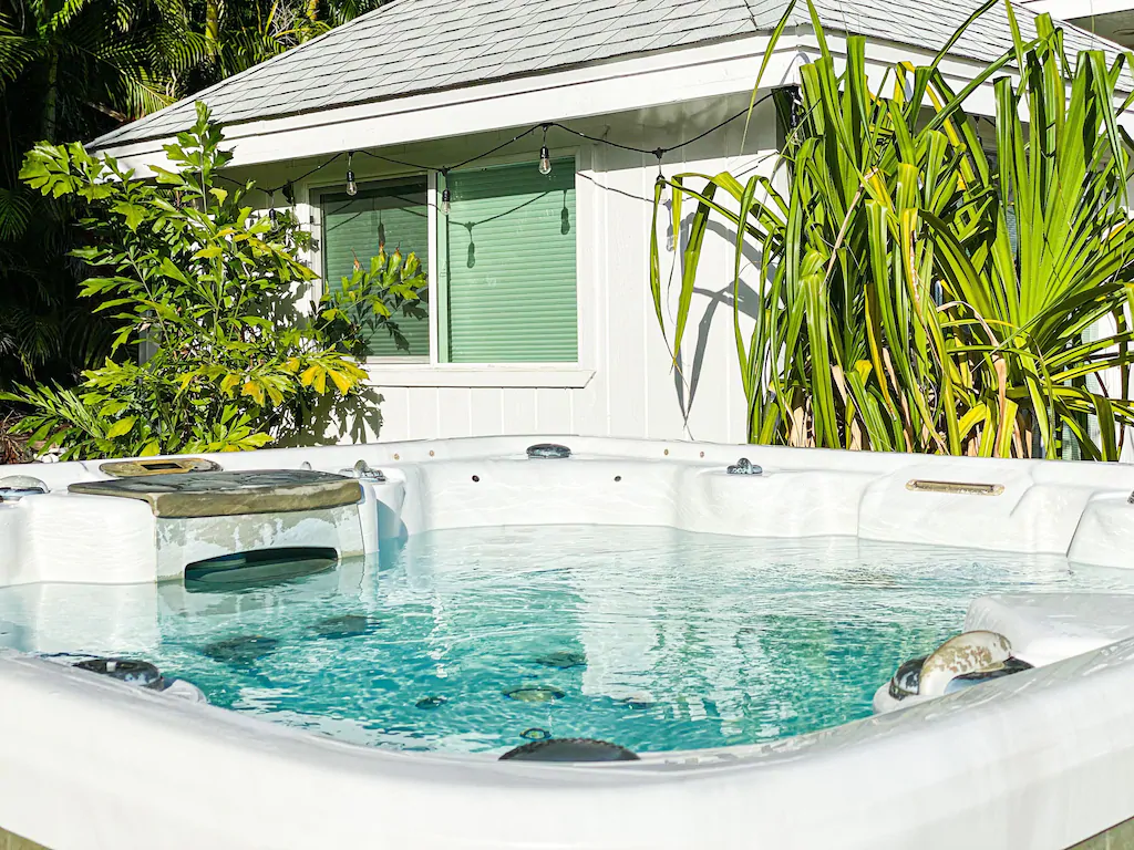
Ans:
[[[346,193],[323,195],[323,281],[329,289],[341,289],[342,278],[350,277],[355,260],[370,269],[379,247],[403,256],[414,252],[422,267],[429,265],[429,215],[424,179],[400,180],[359,187],[354,197]],[[398,330],[408,349],[398,348],[389,331],[379,326],[366,345],[371,357],[429,357],[429,305],[417,317],[398,316]]]

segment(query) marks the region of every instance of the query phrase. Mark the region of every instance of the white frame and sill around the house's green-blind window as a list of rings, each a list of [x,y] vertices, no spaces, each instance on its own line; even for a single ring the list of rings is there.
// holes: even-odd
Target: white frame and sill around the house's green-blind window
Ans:
[[[426,211],[429,227],[429,256],[430,262],[426,267],[426,282],[429,289],[429,341],[430,352],[428,360],[420,356],[393,356],[393,357],[366,357],[363,366],[371,376],[371,382],[378,386],[547,386],[547,388],[583,388],[590,383],[594,376],[594,369],[585,366],[584,355],[584,277],[586,257],[583,256],[582,230],[579,224],[585,216],[584,204],[581,198],[585,193],[579,192],[584,182],[579,178],[583,168],[583,151],[579,147],[557,148],[555,159],[574,159],[575,161],[575,322],[577,354],[574,363],[441,363],[440,356],[440,311],[437,309],[440,294],[440,270],[439,270],[439,204],[440,192],[438,189],[437,171],[424,173],[426,178]],[[538,165],[539,156],[531,152],[493,156],[475,167],[493,168],[496,165],[514,165],[531,162],[532,167]],[[359,158],[354,160],[355,177],[359,186],[381,184],[390,180],[401,180],[406,178],[420,178],[421,171],[399,170],[375,172],[372,169],[359,167],[365,164],[365,159],[359,162]],[[474,167],[469,167],[472,170]],[[342,178],[312,179],[305,186],[299,187],[301,195],[304,195],[308,206],[308,222],[314,237],[308,256],[312,271],[319,277],[312,282],[314,299],[323,295],[325,281],[323,280],[323,221],[322,202],[323,196],[329,194],[341,194],[344,190]],[[589,195],[585,195],[589,197]]]

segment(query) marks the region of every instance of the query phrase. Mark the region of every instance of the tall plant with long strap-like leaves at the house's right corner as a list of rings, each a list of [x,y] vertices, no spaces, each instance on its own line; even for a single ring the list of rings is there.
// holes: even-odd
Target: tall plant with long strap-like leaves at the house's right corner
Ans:
[[[1013,49],[955,93],[938,65],[995,1],[929,66],[891,67],[882,96],[868,85],[863,39],[847,40],[836,71],[809,0],[820,57],[801,70],[802,101],[775,95],[787,190],[727,172],[659,180],[651,287],[675,365],[709,222],[735,229],[734,332],[751,441],[1055,458],[1066,425],[1083,457],[1117,459],[1122,426],[1134,424],[1131,139],[1116,122],[1129,101],[1115,107],[1125,59],[1108,67],[1086,51],[1072,66],[1048,16],[1024,43],[1006,1]],[[964,104],[997,75],[990,158]],[[683,198],[696,202],[671,325],[657,238],[667,187],[675,230]],[[760,282],[746,307],[750,246]],[[1101,330],[1108,318],[1112,330]],[[1108,369],[1120,373],[1114,398],[1099,380]]]

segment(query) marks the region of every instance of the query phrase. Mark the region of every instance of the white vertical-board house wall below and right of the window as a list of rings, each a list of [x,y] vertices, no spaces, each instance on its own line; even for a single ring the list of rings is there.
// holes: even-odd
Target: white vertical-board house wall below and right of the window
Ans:
[[[589,126],[586,131],[592,135],[606,133],[611,139],[652,148],[695,136],[737,111],[746,100],[720,99],[685,104],[675,107],[669,114],[608,116],[602,119],[600,130]],[[770,103],[760,107],[754,114],[742,154],[743,134],[744,120],[741,119],[667,155],[665,173],[716,173],[725,169],[746,172],[759,169],[770,173],[775,159],[768,154],[776,144]],[[500,135],[507,137],[508,134]],[[407,146],[390,155],[409,161],[445,162],[459,159],[462,151],[491,147],[493,142],[491,137],[486,141],[480,137],[459,146],[451,142],[440,147],[438,144],[432,148]],[[369,439],[398,441],[566,433],[744,441],[744,397],[733,338],[731,231],[721,224],[705,238],[697,292],[682,349],[683,381],[670,366],[670,355],[650,296],[650,223],[657,161],[651,154],[589,143],[578,148],[578,160],[579,363],[572,369],[583,377],[578,374],[555,377],[553,373],[562,369],[552,366],[526,371],[524,375],[498,383],[491,374],[467,371],[462,373],[464,377],[454,381],[443,377],[445,374],[451,376],[452,371],[446,373],[442,366],[425,369],[442,385],[406,385],[429,383],[431,379],[420,368],[407,379],[407,369],[403,366],[372,364],[374,386],[382,396],[382,423],[379,433],[369,434]],[[380,176],[378,171],[367,171],[375,168],[372,162],[355,158],[359,180]],[[261,185],[272,185],[310,168],[310,161],[280,163],[277,168],[249,169],[247,176]],[[302,219],[311,214],[306,203],[310,190],[341,179],[341,170],[340,164],[336,164],[297,186],[297,212]],[[279,195],[277,203],[282,204]],[[683,244],[693,209],[694,204],[686,199]],[[668,212],[662,218],[668,219]],[[680,255],[679,250],[666,250],[667,227],[662,224],[660,239],[671,316],[676,309],[680,271],[678,265],[669,277],[670,265]],[[318,257],[312,260],[318,269]],[[695,390],[692,405],[688,403],[691,384]],[[350,441],[348,434],[338,436],[344,442]]]

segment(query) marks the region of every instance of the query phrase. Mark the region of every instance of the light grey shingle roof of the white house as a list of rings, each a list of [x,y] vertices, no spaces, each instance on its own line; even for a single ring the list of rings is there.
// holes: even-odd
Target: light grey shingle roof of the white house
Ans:
[[[815,0],[831,31],[942,45],[979,0]],[[440,88],[689,46],[772,29],[787,0],[396,0],[319,39],[109,133],[104,148],[174,135],[204,100],[223,125],[314,112]],[[793,23],[807,24],[799,2]],[[1025,37],[1033,12],[1017,12]],[[1066,26],[1069,51],[1105,45]],[[1012,46],[997,5],[954,52],[991,60]]]

